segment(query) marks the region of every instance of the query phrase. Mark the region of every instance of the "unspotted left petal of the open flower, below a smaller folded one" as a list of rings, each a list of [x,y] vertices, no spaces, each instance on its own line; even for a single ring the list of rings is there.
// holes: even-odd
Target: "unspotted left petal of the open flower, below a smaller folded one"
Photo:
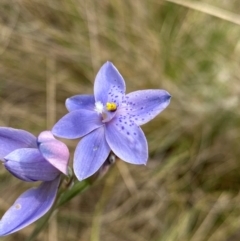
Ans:
[[[75,110],[63,116],[53,127],[55,136],[76,139],[102,126],[101,116],[95,111]]]

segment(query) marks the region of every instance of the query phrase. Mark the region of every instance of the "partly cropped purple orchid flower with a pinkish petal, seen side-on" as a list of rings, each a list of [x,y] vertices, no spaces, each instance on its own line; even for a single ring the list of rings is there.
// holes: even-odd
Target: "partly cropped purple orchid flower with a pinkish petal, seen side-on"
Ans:
[[[0,236],[16,232],[42,217],[53,205],[61,173],[67,174],[69,151],[50,131],[36,138],[27,131],[0,128],[0,159],[15,177],[42,181],[17,198],[0,220]]]

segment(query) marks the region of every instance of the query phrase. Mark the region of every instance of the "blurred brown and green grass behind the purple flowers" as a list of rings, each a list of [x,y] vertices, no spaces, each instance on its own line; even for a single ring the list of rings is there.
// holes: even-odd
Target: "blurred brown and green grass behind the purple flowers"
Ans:
[[[92,93],[106,60],[127,92],[172,95],[143,126],[148,165],[116,163],[37,240],[240,240],[240,26],[231,21],[239,1],[191,1],[204,11],[176,2],[1,0],[1,126],[51,129],[67,97]],[[65,142],[73,151],[76,142]],[[27,188],[2,167],[1,214]],[[1,240],[24,240],[33,228]]]

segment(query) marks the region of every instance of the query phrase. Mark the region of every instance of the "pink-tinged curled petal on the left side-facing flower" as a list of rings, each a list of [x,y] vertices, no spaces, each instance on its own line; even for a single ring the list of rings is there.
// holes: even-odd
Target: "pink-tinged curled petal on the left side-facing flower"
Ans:
[[[54,138],[50,131],[38,136],[39,151],[43,157],[63,174],[68,173],[69,151],[67,146]]]

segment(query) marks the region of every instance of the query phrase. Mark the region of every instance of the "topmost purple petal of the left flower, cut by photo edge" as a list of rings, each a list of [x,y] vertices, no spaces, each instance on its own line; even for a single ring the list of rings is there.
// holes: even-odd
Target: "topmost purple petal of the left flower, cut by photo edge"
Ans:
[[[37,147],[34,135],[24,130],[0,127],[0,159],[16,149],[27,147]]]

